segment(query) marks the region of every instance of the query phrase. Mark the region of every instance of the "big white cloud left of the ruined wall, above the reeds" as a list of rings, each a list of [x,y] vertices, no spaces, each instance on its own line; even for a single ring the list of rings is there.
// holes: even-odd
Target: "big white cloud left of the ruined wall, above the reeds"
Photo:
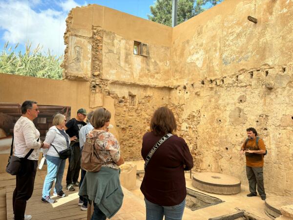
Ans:
[[[65,19],[72,7],[78,6],[74,0],[67,0],[60,3],[62,11],[46,9],[35,11],[39,0],[0,1],[0,29],[4,30],[1,38],[13,44],[25,44],[28,40],[32,47],[38,44],[43,46],[43,51],[50,51],[53,54],[64,53],[63,35],[66,29]]]

